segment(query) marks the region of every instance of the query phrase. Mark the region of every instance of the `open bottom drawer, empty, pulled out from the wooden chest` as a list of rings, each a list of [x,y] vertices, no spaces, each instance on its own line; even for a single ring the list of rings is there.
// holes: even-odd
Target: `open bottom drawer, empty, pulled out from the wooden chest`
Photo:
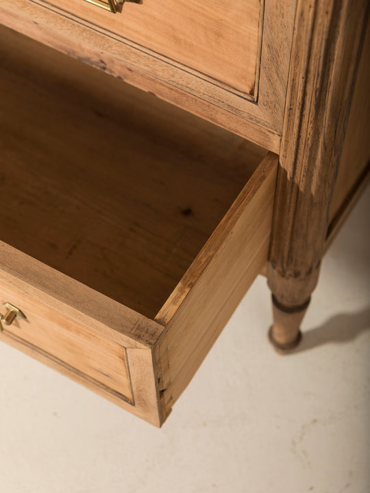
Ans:
[[[277,156],[8,29],[0,57],[0,339],[159,426],[267,261]]]

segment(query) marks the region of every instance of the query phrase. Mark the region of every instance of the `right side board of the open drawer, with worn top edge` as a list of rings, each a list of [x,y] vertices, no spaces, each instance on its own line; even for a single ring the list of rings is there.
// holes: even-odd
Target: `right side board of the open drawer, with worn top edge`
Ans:
[[[267,155],[178,286],[174,310],[158,314],[167,323],[154,352],[163,416],[267,260],[276,168]]]

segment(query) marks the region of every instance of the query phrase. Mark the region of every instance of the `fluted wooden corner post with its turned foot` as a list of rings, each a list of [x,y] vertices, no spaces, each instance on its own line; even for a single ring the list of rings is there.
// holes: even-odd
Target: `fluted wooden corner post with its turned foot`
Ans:
[[[368,0],[297,1],[267,265],[269,338],[283,353],[319,277],[368,13]]]

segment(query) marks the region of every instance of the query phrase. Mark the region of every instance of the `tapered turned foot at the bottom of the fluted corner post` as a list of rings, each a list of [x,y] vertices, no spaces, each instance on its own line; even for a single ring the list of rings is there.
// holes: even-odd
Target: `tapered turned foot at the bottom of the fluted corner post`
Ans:
[[[272,296],[273,326],[269,330],[269,340],[280,354],[292,351],[301,341],[301,321],[304,318],[310,299],[305,303],[286,307]]]

